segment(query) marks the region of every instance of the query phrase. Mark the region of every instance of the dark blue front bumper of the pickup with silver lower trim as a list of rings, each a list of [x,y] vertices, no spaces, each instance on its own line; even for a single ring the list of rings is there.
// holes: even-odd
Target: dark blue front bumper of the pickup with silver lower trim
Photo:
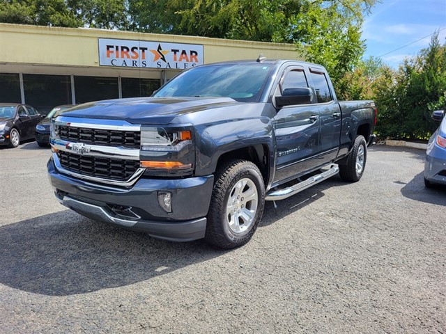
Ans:
[[[52,158],[47,169],[59,202],[83,216],[160,239],[191,241],[204,237],[213,175],[174,180],[141,177],[125,188],[63,175]],[[171,192],[171,214],[158,204],[159,191]]]

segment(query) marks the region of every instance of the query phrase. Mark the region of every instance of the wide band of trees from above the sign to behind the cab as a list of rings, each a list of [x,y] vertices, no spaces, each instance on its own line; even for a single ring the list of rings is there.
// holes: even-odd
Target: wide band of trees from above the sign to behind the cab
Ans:
[[[295,43],[336,83],[364,52],[363,15],[376,0],[129,0],[132,29]],[[268,56],[268,55],[267,55]]]

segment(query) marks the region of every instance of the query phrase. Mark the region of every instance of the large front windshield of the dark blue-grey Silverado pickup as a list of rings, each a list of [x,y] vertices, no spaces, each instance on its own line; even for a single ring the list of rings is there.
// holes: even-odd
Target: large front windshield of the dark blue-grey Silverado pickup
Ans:
[[[169,81],[154,97],[231,97],[259,102],[271,65],[236,64],[195,67]]]

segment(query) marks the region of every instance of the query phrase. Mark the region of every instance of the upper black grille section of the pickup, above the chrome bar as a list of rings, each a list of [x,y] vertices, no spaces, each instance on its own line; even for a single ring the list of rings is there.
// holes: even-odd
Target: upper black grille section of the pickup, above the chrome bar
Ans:
[[[63,141],[92,145],[123,146],[125,148],[139,148],[141,146],[141,133],[136,131],[89,129],[58,125],[57,132],[59,138]]]

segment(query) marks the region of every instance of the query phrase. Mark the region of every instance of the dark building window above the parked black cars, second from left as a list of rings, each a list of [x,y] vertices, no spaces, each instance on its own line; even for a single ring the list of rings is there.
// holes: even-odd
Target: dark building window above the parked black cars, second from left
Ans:
[[[69,75],[23,74],[26,104],[47,114],[54,106],[72,104]]]

